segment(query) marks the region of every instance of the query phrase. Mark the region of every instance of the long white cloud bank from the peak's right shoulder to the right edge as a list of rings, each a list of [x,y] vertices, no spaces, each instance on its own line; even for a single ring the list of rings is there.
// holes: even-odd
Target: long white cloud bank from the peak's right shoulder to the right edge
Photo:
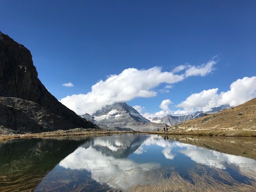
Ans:
[[[169,105],[172,104],[172,102],[167,99],[163,100],[159,106],[162,110],[154,113],[142,113],[144,108],[140,106],[140,113],[148,120],[157,122],[153,121],[151,118],[163,117],[166,115],[180,116],[193,114],[196,111],[208,111],[212,107],[225,104],[232,107],[238,106],[256,97],[256,77],[253,76],[251,78],[244,77],[243,79],[238,79],[230,85],[230,90],[226,92],[218,94],[218,90],[218,88],[213,88],[191,94],[185,101],[182,101],[175,106],[183,109],[178,109],[176,111],[171,110]]]

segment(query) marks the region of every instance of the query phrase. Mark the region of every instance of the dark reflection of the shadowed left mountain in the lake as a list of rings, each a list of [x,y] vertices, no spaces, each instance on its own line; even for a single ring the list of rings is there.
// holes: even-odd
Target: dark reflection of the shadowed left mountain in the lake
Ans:
[[[14,139],[0,142],[0,174],[2,177],[5,175],[10,178],[9,183],[1,183],[0,191],[34,191],[62,159],[90,140],[90,137],[73,137]],[[23,178],[26,185],[13,179],[12,175]]]

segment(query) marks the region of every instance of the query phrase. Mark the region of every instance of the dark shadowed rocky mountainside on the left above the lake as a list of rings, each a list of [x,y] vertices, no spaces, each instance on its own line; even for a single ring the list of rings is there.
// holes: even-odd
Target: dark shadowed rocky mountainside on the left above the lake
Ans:
[[[78,127],[95,125],[52,96],[38,79],[30,51],[0,32],[0,129],[44,132]]]

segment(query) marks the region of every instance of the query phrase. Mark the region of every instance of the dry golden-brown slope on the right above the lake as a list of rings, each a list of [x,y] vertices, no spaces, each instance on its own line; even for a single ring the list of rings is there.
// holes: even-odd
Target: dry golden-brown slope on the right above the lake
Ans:
[[[170,126],[168,129],[170,133],[176,134],[256,136],[256,98],[216,114],[207,114],[202,118]]]

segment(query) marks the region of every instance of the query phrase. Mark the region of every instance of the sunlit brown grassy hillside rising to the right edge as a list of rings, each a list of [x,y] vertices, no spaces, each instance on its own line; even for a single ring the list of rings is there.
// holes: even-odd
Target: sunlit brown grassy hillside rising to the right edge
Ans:
[[[256,98],[216,114],[206,114],[202,118],[176,124],[171,126],[170,129],[184,131],[218,129],[230,132],[247,130],[253,133],[256,130]]]

